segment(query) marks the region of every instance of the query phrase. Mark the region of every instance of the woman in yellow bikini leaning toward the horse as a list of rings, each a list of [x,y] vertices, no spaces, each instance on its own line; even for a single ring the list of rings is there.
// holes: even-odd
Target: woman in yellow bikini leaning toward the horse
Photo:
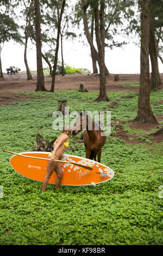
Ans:
[[[47,172],[45,175],[45,178],[43,179],[42,184],[42,191],[45,192],[48,184],[49,178],[51,178],[52,173],[57,173],[57,179],[55,181],[55,190],[57,190],[60,187],[60,182],[62,178],[62,169],[61,169],[61,163],[54,161],[54,160],[60,160],[61,157],[64,154],[64,151],[66,148],[68,148],[68,138],[72,135],[72,130],[70,126],[64,127],[61,135],[56,139],[54,142],[54,150],[48,155],[48,159],[51,159],[51,161],[48,161],[47,164]]]

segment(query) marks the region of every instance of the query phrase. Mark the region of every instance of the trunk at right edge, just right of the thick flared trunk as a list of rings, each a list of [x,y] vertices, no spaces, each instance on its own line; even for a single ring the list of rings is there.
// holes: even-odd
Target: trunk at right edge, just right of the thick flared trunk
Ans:
[[[161,87],[161,78],[159,74],[159,65],[158,65],[158,50],[156,47],[155,36],[150,29],[150,40],[149,40],[149,55],[151,58],[151,66],[152,66],[152,73],[151,73],[151,90],[158,90]]]

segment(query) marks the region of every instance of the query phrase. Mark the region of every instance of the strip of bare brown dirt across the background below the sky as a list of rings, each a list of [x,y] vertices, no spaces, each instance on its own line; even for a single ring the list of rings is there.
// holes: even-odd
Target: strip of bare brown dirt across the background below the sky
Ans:
[[[111,74],[110,77],[106,77],[106,92],[139,92],[139,87],[121,85],[123,83],[139,83],[139,74],[119,74],[120,81],[117,82],[114,81],[114,75]],[[34,92],[36,89],[36,74],[33,73],[32,76],[33,80],[27,81],[27,75],[24,72],[15,75],[4,74],[4,78],[0,78],[0,105],[29,99],[28,96],[16,94],[16,91]],[[160,76],[163,83],[163,74],[160,74]],[[45,87],[47,90],[51,88],[51,81],[51,76],[45,76]],[[56,76],[54,92],[57,90],[79,89],[80,83],[89,92],[99,92],[99,74]],[[11,91],[15,93],[11,93]]]

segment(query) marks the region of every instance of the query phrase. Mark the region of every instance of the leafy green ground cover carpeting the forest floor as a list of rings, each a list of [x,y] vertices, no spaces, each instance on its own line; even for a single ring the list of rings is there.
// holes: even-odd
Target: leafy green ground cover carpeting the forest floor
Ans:
[[[161,245],[163,143],[127,144],[116,135],[115,119],[136,117],[137,93],[112,92],[108,102],[92,102],[98,93],[78,90],[54,94],[29,92],[30,100],[0,106],[0,244],[1,245]],[[162,114],[163,91],[151,93],[155,115]],[[101,162],[115,172],[114,178],[96,186],[61,186],[58,192],[48,184],[24,178],[9,164],[3,149],[17,153],[32,151],[36,135],[48,141],[60,134],[54,131],[52,114],[58,100],[68,99],[70,112],[111,110],[111,136],[102,150]],[[128,126],[126,125],[126,132]],[[129,131],[130,132],[130,131]],[[72,136],[65,154],[85,157],[84,143]],[[138,134],[137,134],[138,135]],[[162,193],[163,196],[163,193]]]

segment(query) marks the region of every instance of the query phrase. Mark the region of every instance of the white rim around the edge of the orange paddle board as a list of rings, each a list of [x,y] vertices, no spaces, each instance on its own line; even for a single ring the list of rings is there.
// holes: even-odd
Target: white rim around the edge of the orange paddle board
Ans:
[[[43,152],[43,151],[29,151],[29,152],[22,152],[22,153],[19,153],[19,154],[28,154],[28,153],[39,153],[39,154],[48,154],[48,155],[50,154],[50,152]],[[11,156],[10,160],[11,160],[12,157],[14,157],[14,156],[17,156],[17,155]],[[86,159],[85,157],[82,157],[82,156],[73,156],[73,155],[68,155],[68,154],[64,154],[63,156],[72,156],[72,157],[75,157],[75,158],[81,158],[81,159],[85,159],[85,160],[91,160],[91,159]],[[10,160],[9,160],[9,162],[10,162]],[[114,177],[114,174],[115,174],[115,173],[114,173],[114,171],[113,171],[110,167],[105,166],[105,164],[99,163],[99,162],[94,161],[94,160],[91,160],[91,161],[93,161],[93,162],[95,162],[95,163],[97,163],[97,164],[102,164],[102,166],[104,166],[104,167],[106,167],[106,168],[109,168],[109,169],[111,170],[112,174],[113,174],[110,179],[104,180],[104,181],[101,181],[101,182],[97,182],[96,184],[100,184],[100,183],[109,181],[109,180],[111,180],[111,179]],[[10,166],[11,166],[11,163],[10,163]],[[12,166],[11,166],[11,167],[12,167]],[[14,168],[12,167],[12,169],[14,169]],[[15,170],[15,169],[14,169],[14,170]],[[17,172],[17,170],[15,170],[15,171]],[[17,173],[18,173],[18,172],[17,172]],[[18,174],[22,175],[23,177],[25,177],[25,178],[27,178],[27,179],[34,180],[34,179],[31,179],[31,178],[28,178],[27,176],[24,176],[24,175],[21,174],[21,173],[18,173]],[[39,181],[39,180],[35,180],[35,181],[42,182],[42,181]],[[49,183],[49,182],[48,182],[48,184],[53,184],[53,185],[55,185],[54,183]],[[82,184],[82,185],[66,185],[66,184],[61,184],[60,186],[90,186],[90,185],[92,185],[92,184]]]

